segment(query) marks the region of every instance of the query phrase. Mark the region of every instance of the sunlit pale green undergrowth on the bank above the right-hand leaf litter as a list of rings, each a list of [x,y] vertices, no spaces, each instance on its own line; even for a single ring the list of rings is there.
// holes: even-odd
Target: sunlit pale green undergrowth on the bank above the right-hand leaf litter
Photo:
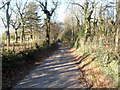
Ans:
[[[120,86],[120,73],[119,73],[119,57],[120,53],[115,52],[114,47],[104,46],[103,44],[95,44],[95,42],[86,42],[80,40],[80,51],[82,53],[93,54],[96,57],[95,62],[101,66],[101,70],[106,74],[112,83],[109,87],[119,88]]]

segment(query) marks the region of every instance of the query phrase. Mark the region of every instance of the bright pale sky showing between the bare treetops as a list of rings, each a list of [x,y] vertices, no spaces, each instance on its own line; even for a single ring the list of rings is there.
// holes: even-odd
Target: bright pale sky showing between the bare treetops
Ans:
[[[11,5],[14,4],[14,1],[15,0],[12,0]],[[25,0],[23,0],[23,1],[25,1]],[[28,0],[28,1],[30,2],[30,1],[33,1],[33,0]],[[51,1],[51,0],[48,0],[48,1]],[[56,17],[53,18],[53,19],[55,19],[58,22],[63,22],[64,18],[67,15],[67,12],[68,12],[68,10],[66,10],[68,5],[66,3],[67,0],[60,0],[60,1],[61,1],[60,5],[57,8],[57,12],[55,13]],[[79,2],[80,4],[82,4],[85,0],[81,0],[81,1],[80,0],[73,0],[73,1]],[[96,0],[96,1],[104,1],[104,0]],[[106,0],[106,1],[115,1],[115,0]],[[0,6],[1,6],[1,2],[0,2]],[[5,14],[2,12],[2,10],[0,10],[0,16],[5,16]],[[0,20],[0,34],[3,33],[3,32],[5,32],[5,28],[2,24],[2,21]]]

